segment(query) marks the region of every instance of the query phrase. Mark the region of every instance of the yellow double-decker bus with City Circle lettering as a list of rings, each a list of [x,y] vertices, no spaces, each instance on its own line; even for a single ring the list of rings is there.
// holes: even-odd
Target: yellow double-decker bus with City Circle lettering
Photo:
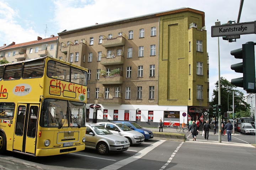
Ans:
[[[0,153],[85,149],[87,69],[52,57],[0,65]]]

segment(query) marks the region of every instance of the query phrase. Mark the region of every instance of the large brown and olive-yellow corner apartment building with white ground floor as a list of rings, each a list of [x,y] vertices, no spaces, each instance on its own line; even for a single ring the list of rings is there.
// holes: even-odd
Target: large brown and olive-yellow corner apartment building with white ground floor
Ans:
[[[177,126],[209,108],[204,28],[191,8],[96,23],[58,33],[57,57],[89,70],[89,121]]]

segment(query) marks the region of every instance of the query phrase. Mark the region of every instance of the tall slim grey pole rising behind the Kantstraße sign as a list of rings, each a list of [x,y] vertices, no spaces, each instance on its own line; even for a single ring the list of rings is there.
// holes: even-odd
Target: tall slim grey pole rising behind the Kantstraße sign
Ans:
[[[215,22],[215,26],[220,26],[220,21],[217,19],[217,22]],[[218,71],[219,71],[219,81],[218,81],[218,104],[221,105],[220,101],[220,56],[219,56],[219,37],[218,37]],[[219,120],[219,143],[221,143],[221,117],[220,114],[218,113],[218,120]]]

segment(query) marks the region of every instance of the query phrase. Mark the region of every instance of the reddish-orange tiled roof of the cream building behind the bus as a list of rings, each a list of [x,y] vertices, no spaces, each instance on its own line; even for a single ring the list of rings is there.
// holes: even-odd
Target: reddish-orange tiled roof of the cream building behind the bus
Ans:
[[[9,46],[3,47],[2,49],[0,48],[0,51],[16,49],[16,48],[21,48],[21,47],[31,46],[31,45],[36,45],[36,44],[43,44],[46,42],[52,42],[52,41],[56,41],[58,39],[58,37],[59,36],[54,36],[54,37],[45,38],[45,39],[41,39],[41,40],[35,40],[35,41],[23,42],[21,44],[9,45]]]

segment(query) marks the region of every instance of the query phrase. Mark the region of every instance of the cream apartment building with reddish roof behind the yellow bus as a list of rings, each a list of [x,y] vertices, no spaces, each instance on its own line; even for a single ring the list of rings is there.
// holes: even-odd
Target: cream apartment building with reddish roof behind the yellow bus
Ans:
[[[15,42],[9,45],[4,44],[0,48],[0,60],[5,59],[11,63],[44,56],[56,58],[57,41],[58,36],[51,35],[50,38],[46,39],[38,36],[35,41],[21,44],[15,44]]]

